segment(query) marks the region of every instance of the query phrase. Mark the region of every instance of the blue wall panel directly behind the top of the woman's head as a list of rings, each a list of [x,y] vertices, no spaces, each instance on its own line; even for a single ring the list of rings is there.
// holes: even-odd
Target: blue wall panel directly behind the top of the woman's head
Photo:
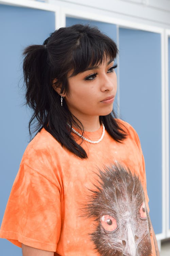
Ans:
[[[77,18],[69,18],[66,17],[66,26],[72,26],[74,24],[89,24],[91,26],[97,26],[99,30],[103,33],[105,33],[107,36],[111,37],[115,42],[117,42],[117,27],[115,24],[105,23],[105,22],[99,22],[99,21],[91,21],[87,19],[77,19]],[[116,60],[115,60],[116,64]],[[116,69],[115,69],[116,71]],[[117,113],[117,95],[114,101],[114,110]]]

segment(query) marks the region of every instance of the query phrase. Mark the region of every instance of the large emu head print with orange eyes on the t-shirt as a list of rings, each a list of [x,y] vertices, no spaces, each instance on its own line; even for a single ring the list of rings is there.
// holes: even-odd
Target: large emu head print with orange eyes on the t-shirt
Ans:
[[[83,216],[95,218],[90,234],[101,256],[149,256],[151,222],[139,178],[120,164],[99,171]]]

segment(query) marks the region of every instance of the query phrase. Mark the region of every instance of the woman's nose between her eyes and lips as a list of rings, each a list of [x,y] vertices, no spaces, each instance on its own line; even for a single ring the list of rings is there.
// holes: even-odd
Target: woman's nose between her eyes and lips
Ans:
[[[103,76],[100,79],[101,83],[101,91],[113,91],[114,87],[116,88],[117,84],[116,81],[114,81],[113,77],[108,76],[108,74],[103,74]]]

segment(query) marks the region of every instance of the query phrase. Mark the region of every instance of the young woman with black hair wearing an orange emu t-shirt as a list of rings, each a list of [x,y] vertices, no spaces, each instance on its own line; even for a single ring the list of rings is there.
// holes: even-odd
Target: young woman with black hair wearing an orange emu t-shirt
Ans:
[[[0,236],[23,256],[155,256],[137,133],[112,111],[115,42],[97,28],[56,30],[24,51],[29,127]]]

